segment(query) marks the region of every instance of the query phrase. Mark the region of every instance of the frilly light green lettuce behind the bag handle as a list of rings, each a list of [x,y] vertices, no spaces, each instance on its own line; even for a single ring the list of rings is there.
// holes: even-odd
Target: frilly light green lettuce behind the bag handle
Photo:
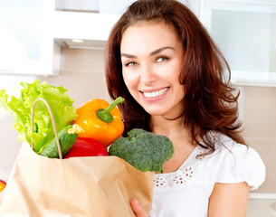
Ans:
[[[77,118],[76,109],[72,106],[73,100],[65,93],[67,90],[53,87],[46,81],[34,80],[32,84],[22,82],[23,89],[19,98],[9,97],[5,90],[0,90],[0,106],[14,117],[14,128],[18,131],[18,140],[31,145],[33,150],[40,153],[54,137],[50,113],[43,103],[38,101],[34,109],[33,133],[32,110],[36,99],[45,99],[52,109],[53,118],[59,132]]]

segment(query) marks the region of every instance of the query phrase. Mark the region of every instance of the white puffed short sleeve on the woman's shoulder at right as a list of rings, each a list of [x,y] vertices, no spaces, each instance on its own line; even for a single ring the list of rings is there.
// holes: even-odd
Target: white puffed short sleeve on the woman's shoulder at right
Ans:
[[[265,166],[255,149],[219,132],[210,131],[208,137],[213,140],[215,151],[204,158],[214,169],[216,183],[246,182],[252,190],[263,183]]]

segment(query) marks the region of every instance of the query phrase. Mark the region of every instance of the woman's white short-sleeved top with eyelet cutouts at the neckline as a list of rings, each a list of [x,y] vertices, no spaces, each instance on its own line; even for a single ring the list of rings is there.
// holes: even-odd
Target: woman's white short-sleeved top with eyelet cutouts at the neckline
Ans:
[[[214,131],[208,134],[214,139],[214,153],[197,158],[206,150],[196,146],[176,172],[155,175],[150,217],[207,217],[215,183],[246,182],[251,190],[263,183],[265,166],[252,147]]]

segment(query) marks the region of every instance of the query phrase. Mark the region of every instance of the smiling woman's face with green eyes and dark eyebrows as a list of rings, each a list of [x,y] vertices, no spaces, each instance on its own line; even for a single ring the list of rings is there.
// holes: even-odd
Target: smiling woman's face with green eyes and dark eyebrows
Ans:
[[[152,116],[176,118],[183,111],[179,74],[182,43],[166,24],[129,26],[120,44],[123,79],[132,97]]]

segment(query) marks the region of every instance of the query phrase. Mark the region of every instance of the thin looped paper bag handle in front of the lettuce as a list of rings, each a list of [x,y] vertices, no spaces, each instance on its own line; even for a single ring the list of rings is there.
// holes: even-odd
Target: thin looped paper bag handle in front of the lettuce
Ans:
[[[49,105],[49,103],[43,99],[43,98],[38,98],[36,99],[34,102],[33,102],[33,111],[32,111],[32,133],[33,133],[33,118],[34,118],[34,108],[35,108],[35,105],[38,101],[43,101],[44,104],[46,105],[49,113],[50,113],[50,117],[51,117],[51,120],[52,120],[52,127],[53,127],[53,131],[54,131],[54,135],[55,135],[55,138],[56,138],[56,143],[57,143],[57,146],[58,146],[58,152],[59,152],[59,157],[60,159],[62,159],[62,148],[61,148],[61,144],[60,144],[60,140],[59,140],[59,136],[58,136],[58,132],[57,132],[57,129],[56,129],[56,125],[55,125],[55,121],[54,121],[54,118],[53,118],[53,115],[52,115],[52,109]],[[32,149],[33,149],[33,139],[32,139]]]

